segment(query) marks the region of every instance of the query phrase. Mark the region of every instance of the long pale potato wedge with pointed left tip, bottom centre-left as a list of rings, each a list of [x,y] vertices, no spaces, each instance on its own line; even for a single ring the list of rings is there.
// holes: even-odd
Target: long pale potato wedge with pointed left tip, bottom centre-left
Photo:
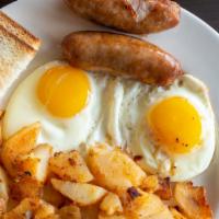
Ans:
[[[59,193],[80,206],[95,204],[106,194],[104,188],[87,183],[73,183],[51,178],[51,184]]]

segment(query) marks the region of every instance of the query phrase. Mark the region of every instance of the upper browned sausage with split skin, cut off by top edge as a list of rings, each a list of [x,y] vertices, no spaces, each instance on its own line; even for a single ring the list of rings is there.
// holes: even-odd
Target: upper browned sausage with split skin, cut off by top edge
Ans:
[[[164,31],[180,22],[181,8],[171,0],[65,0],[74,13],[134,34]]]

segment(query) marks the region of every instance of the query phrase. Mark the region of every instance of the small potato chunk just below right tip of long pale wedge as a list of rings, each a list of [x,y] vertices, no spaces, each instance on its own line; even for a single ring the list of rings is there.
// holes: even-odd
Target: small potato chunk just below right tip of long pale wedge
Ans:
[[[100,205],[101,210],[105,211],[106,215],[112,216],[115,212],[122,212],[123,206],[119,197],[116,194],[108,193]]]

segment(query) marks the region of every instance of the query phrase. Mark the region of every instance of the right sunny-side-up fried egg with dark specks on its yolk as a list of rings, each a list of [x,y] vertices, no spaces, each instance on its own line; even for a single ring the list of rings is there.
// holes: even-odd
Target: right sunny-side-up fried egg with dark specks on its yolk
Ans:
[[[204,172],[215,151],[215,118],[205,84],[184,76],[170,88],[126,88],[122,139],[148,172],[189,180]],[[138,113],[136,113],[138,112]],[[139,158],[139,157],[138,157]]]

